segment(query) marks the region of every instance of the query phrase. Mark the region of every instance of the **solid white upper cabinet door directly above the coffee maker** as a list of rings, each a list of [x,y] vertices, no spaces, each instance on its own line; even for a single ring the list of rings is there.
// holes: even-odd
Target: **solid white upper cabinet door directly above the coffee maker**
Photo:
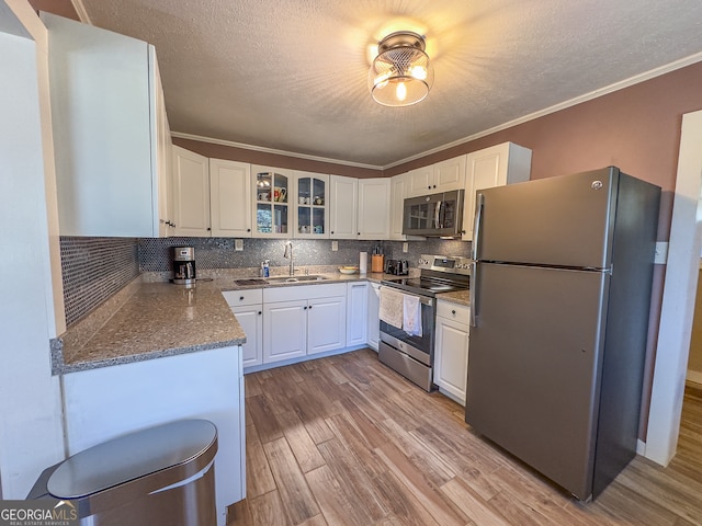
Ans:
[[[173,146],[173,235],[211,236],[210,160]]]

